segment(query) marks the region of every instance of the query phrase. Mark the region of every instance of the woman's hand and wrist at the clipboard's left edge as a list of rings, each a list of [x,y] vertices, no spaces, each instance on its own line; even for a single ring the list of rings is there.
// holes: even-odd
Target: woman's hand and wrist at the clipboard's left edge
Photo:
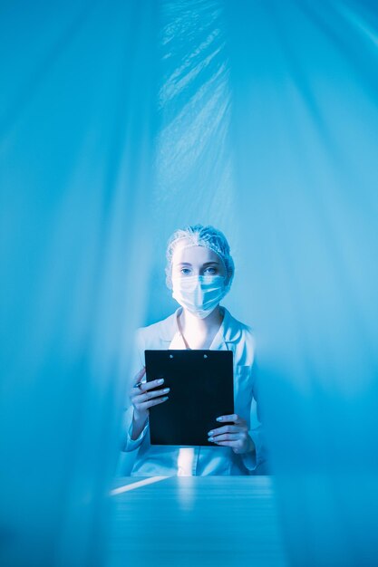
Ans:
[[[152,380],[151,382],[142,382],[146,368],[143,368],[136,374],[130,392],[131,404],[134,408],[134,416],[132,419],[132,434],[131,439],[137,439],[141,435],[141,431],[149,417],[149,408],[157,406],[167,401],[169,388],[160,388],[154,391],[151,389],[157,388],[164,383],[164,379]],[[139,384],[139,386],[138,386]]]

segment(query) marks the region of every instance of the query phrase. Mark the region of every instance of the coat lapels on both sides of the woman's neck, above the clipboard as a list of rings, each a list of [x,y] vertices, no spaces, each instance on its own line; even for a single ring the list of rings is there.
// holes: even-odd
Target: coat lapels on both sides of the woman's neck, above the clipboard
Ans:
[[[217,350],[221,348],[221,345],[223,343],[225,344],[226,348],[228,343],[235,343],[240,339],[241,334],[240,323],[234,317],[232,317],[231,313],[228,312],[226,307],[221,307],[221,309],[224,312],[223,321],[212,344],[212,348]],[[173,345],[183,344],[178,324],[178,316],[181,311],[182,307],[179,307],[176,312],[172,313],[170,317],[167,317],[167,319],[162,321],[160,324],[160,340],[167,342],[167,349],[169,348],[171,342],[173,342]],[[175,346],[175,348],[179,347]]]

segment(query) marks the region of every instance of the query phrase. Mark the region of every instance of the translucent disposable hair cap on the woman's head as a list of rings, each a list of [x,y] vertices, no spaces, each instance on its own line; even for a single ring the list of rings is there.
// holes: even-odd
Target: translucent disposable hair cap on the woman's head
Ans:
[[[170,236],[167,246],[167,266],[166,266],[166,282],[168,287],[172,288],[172,258],[176,247],[179,243],[188,241],[189,246],[205,246],[215,252],[226,269],[226,288],[229,291],[232,280],[234,278],[235,266],[229,251],[229,245],[226,236],[214,226],[194,225],[186,226],[175,230]]]

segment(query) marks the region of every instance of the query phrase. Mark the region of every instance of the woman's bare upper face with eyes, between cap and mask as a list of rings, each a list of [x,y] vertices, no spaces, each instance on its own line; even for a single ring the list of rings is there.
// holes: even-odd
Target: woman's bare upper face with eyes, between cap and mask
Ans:
[[[172,259],[172,277],[189,275],[222,275],[226,270],[219,256],[205,246],[189,246],[183,242],[179,245]]]

